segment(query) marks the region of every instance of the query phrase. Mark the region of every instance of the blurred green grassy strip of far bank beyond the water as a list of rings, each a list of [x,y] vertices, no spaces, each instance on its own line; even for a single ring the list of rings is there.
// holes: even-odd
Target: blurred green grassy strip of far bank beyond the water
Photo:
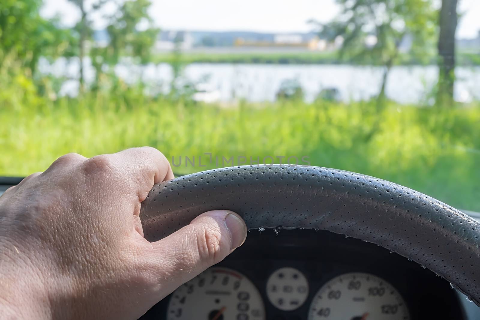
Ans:
[[[158,53],[153,57],[154,63],[175,63],[178,57],[173,53]],[[371,65],[374,61],[340,59],[337,52],[184,52],[182,63],[262,63],[262,64],[358,64]],[[419,61],[405,54],[399,58],[400,65],[436,64],[436,58]],[[458,53],[459,66],[479,66],[480,54]]]

